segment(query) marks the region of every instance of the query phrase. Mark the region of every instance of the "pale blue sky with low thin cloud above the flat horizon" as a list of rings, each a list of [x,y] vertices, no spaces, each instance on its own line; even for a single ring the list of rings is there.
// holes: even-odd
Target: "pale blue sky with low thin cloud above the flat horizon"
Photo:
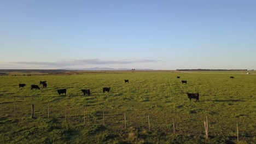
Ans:
[[[256,69],[256,1],[1,0],[0,69]]]

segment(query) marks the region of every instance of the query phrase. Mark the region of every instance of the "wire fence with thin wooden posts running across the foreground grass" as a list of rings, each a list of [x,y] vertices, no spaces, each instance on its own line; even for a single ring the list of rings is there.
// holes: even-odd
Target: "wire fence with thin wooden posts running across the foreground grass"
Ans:
[[[196,119],[195,117],[185,117],[185,115],[166,114],[155,111],[124,111],[115,113],[113,110],[86,109],[81,106],[60,106],[34,104],[32,110],[31,104],[1,103],[0,117],[2,118],[56,118],[59,121],[66,121],[71,125],[91,125],[101,124],[109,129],[126,129],[133,127],[136,129],[146,129],[149,131],[165,131],[166,133],[206,135],[203,121],[206,118]],[[139,110],[138,110],[139,111]],[[33,116],[32,116],[33,113]],[[227,122],[230,120],[230,122]],[[196,122],[199,121],[199,122]],[[223,119],[223,121],[225,121]],[[189,123],[193,123],[189,125]],[[220,123],[220,124],[218,124]],[[232,119],[227,119],[228,125],[222,125],[216,119],[209,118],[208,135],[225,135],[236,139],[237,124],[239,127],[239,136],[241,139],[246,137],[255,137],[253,129],[247,129],[245,125],[234,123]],[[230,127],[232,125],[232,127]],[[8,124],[6,124],[8,127]],[[254,125],[255,127],[255,125]],[[173,129],[174,128],[174,129]],[[242,138],[243,137],[243,138]]]

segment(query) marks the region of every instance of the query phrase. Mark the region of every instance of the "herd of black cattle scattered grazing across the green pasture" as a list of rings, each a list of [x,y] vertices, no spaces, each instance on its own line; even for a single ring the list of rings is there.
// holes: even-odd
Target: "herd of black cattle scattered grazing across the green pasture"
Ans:
[[[181,76],[177,76],[177,79],[179,79]],[[230,79],[234,79],[235,77],[234,76],[230,76]],[[129,80],[125,80],[125,83],[128,82],[129,83]],[[181,81],[182,84],[185,83],[187,85],[187,81],[185,80],[182,80]],[[47,87],[47,83],[46,81],[40,81],[39,82],[39,85],[43,85],[43,88]],[[25,83],[20,83],[19,84],[19,88],[24,88],[26,86]],[[40,87],[38,85],[31,85],[31,90],[33,89],[40,89]],[[83,94],[88,94],[88,96],[90,96],[90,89],[81,89],[81,91],[83,92]],[[103,93],[104,92],[109,92],[110,91],[110,87],[103,87]],[[61,95],[62,93],[67,93],[67,89],[57,89],[57,92],[59,93],[59,95]],[[196,99],[196,101],[199,101],[199,93],[188,93],[186,92],[186,94],[188,95],[188,98],[190,99]]]

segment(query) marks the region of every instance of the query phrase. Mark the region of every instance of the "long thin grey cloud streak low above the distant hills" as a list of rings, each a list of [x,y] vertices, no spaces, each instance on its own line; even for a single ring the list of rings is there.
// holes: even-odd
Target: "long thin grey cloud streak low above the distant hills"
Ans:
[[[68,59],[57,62],[10,62],[14,64],[25,64],[25,65],[45,65],[50,67],[69,67],[74,65],[89,65],[89,64],[132,64],[132,63],[155,63],[159,62],[152,59],[123,59],[121,61],[105,61],[102,59]]]

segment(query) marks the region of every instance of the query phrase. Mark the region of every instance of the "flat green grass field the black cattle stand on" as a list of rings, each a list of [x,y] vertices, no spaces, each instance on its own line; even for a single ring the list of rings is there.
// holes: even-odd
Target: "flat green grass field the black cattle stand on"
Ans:
[[[0,76],[0,143],[255,143],[256,73],[246,73],[85,71]],[[30,89],[45,80],[47,88]],[[19,83],[26,86],[19,88]],[[111,87],[110,92],[103,93],[102,87]],[[66,96],[57,93],[62,88],[67,88]],[[91,95],[84,96],[80,89],[90,89]],[[198,92],[199,102],[190,102],[184,92]]]

